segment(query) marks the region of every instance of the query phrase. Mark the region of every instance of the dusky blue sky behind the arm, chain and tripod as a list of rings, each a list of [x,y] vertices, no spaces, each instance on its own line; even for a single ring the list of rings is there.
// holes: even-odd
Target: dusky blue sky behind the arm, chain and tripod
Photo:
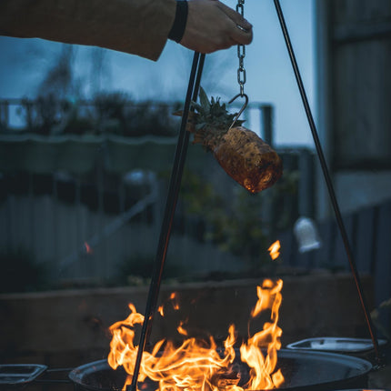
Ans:
[[[225,0],[235,7],[236,1]],[[316,116],[315,16],[313,0],[281,0],[297,62]],[[246,47],[245,91],[250,102],[275,105],[278,145],[312,145],[304,109],[272,0],[246,0],[245,16],[254,25],[254,41]],[[63,45],[39,39],[0,37],[0,98],[34,96]],[[92,61],[101,56],[102,72]],[[83,94],[93,90],[124,91],[135,99],[183,100],[192,53],[168,42],[155,63],[135,55],[75,46],[74,69]],[[203,85],[208,95],[229,100],[239,92],[236,47],[206,56]],[[258,119],[247,126],[258,131]]]

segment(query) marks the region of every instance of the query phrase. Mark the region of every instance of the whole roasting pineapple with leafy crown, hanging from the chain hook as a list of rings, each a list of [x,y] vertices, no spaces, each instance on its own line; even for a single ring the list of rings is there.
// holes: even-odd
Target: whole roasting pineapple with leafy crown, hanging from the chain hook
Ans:
[[[194,103],[187,130],[194,133],[194,144],[204,145],[217,162],[236,182],[251,193],[258,193],[274,185],[283,174],[281,158],[256,133],[236,121],[236,115],[226,111],[219,99],[209,102],[200,89],[200,105]]]

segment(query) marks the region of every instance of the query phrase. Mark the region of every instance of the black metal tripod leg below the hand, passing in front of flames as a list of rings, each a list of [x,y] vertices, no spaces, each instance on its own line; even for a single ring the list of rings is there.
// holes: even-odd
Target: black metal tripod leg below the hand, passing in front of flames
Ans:
[[[137,378],[140,372],[141,361],[145,345],[149,339],[152,329],[152,321],[155,315],[157,297],[159,296],[160,285],[162,281],[163,269],[165,266],[165,256],[167,253],[168,243],[171,234],[171,227],[175,214],[176,201],[179,194],[179,189],[182,180],[182,174],[185,165],[185,156],[187,153],[187,146],[189,141],[189,132],[186,131],[188,114],[190,111],[190,103],[193,99],[196,100],[198,89],[201,82],[202,70],[204,67],[205,55],[195,53],[193,58],[193,65],[190,73],[189,84],[187,87],[187,94],[185,98],[184,113],[182,115],[182,122],[178,136],[178,142],[175,150],[175,158],[173,170],[170,178],[170,185],[168,187],[168,195],[165,204],[165,215],[160,231],[159,243],[155,256],[154,268],[152,271],[151,284],[149,286],[149,293],[145,306],[145,317],[143,327],[141,329],[140,342],[138,344],[137,356],[135,359],[135,368],[133,372],[132,384],[130,391],[136,391]]]

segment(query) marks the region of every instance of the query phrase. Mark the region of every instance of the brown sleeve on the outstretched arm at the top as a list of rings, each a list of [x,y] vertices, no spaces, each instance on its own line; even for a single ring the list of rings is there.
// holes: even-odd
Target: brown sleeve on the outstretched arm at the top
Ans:
[[[0,35],[95,45],[157,60],[175,0],[0,0]]]

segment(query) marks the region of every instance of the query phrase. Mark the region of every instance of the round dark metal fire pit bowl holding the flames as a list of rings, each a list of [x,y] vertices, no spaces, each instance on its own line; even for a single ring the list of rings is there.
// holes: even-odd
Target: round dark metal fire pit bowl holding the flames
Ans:
[[[326,391],[366,387],[366,377],[372,364],[353,356],[281,349],[278,351],[277,367],[286,378],[279,389]],[[105,360],[79,366],[69,374],[76,390],[94,391],[121,390],[125,377],[122,368],[113,370]],[[145,385],[143,388],[155,390],[156,387],[151,383],[151,387]]]

